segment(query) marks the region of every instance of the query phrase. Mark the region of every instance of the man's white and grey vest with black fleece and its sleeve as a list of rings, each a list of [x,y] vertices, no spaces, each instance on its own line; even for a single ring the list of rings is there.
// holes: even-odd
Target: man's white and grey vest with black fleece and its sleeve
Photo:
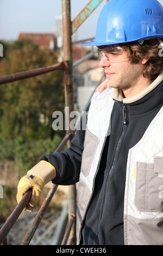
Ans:
[[[42,157],[57,169],[54,183],[79,180],[78,244],[163,245],[162,78],[128,99],[95,93],[86,131]]]

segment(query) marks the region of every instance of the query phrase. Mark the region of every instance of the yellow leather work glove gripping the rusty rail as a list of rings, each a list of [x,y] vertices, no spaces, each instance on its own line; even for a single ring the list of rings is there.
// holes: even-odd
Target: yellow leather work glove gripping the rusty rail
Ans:
[[[20,202],[24,194],[32,188],[32,197],[24,210],[32,211],[40,199],[40,193],[43,186],[47,182],[55,178],[56,172],[52,164],[46,161],[40,161],[32,169],[29,170],[26,176],[23,176],[17,186],[17,203]]]

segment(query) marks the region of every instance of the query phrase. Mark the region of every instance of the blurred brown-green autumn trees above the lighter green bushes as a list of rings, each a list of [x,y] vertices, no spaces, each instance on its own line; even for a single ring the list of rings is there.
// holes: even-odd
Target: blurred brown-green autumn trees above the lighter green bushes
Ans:
[[[58,63],[57,54],[40,49],[33,41],[15,41],[5,45],[1,76]],[[64,109],[62,71],[28,78],[0,86],[0,135],[15,138],[53,137],[52,114]]]

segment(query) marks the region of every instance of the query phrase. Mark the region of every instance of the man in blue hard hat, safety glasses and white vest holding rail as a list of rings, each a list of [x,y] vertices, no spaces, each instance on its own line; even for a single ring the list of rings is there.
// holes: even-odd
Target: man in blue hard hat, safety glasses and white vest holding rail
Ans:
[[[78,245],[163,244],[161,38],[158,1],[104,6],[95,41],[85,44],[98,47],[106,74],[92,97],[86,131],[77,130],[63,153],[43,155],[18,184],[18,202],[33,188],[30,210],[49,180],[79,181]]]

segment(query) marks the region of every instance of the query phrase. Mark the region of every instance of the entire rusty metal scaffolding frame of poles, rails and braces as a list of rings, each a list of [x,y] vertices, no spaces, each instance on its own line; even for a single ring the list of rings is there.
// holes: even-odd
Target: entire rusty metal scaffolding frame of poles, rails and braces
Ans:
[[[65,84],[65,106],[70,108],[70,111],[73,111],[73,67],[77,66],[85,59],[90,58],[95,52],[87,54],[83,59],[79,60],[78,63],[72,64],[72,41],[71,36],[80,25],[89,17],[89,15],[95,10],[98,5],[103,0],[91,0],[86,7],[78,14],[78,16],[71,21],[71,0],[62,0],[62,27],[63,27],[63,52],[64,60],[61,63],[56,65],[48,66],[45,68],[39,68],[29,71],[20,72],[17,74],[7,75],[0,77],[0,84],[10,83],[18,80],[23,80],[25,78],[39,76],[46,74],[47,72],[52,72],[54,70],[62,70],[64,72],[64,84]],[[108,2],[108,1],[106,1]],[[66,118],[70,118],[69,116]],[[70,122],[70,120],[68,120]],[[70,141],[73,137],[71,130],[66,131],[66,135],[59,147],[54,152],[59,152],[67,144],[69,147]],[[47,197],[45,198],[41,208],[37,212],[36,217],[29,230],[27,231],[26,236],[24,237],[21,245],[29,245],[32,237],[45,213],[51,199],[57,190],[58,185],[53,185],[51,190],[48,192]],[[17,218],[20,216],[24,207],[30,200],[32,191],[28,191],[22,198],[21,202],[18,203],[14,211],[11,213],[8,220],[4,223],[3,227],[0,230],[0,245],[7,245],[7,235],[11,230],[12,226],[15,224]],[[68,225],[66,228],[65,235],[63,237],[61,245],[76,245],[76,185],[69,186],[68,192]]]

